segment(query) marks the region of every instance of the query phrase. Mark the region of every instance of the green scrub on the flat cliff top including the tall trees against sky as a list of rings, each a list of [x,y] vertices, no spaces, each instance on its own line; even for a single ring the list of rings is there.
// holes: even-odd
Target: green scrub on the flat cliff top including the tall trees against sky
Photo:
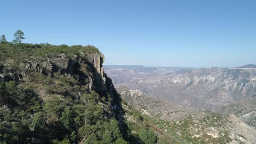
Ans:
[[[24,33],[18,30],[15,34],[15,43],[6,41],[3,34],[0,39],[0,61],[4,62],[7,59],[12,59],[11,64],[17,66],[20,63],[26,62],[30,57],[45,58],[56,57],[60,53],[65,53],[69,57],[80,55],[81,53],[100,53],[100,51],[92,45],[51,45],[51,44],[25,44],[21,43],[25,39]]]

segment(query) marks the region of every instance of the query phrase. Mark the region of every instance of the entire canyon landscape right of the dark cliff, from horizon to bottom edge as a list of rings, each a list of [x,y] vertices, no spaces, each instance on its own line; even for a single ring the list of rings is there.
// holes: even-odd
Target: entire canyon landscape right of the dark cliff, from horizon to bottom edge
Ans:
[[[127,123],[152,122],[148,127],[158,131],[160,143],[254,143],[256,69],[249,67],[105,70],[130,113]],[[132,111],[144,120],[136,120]]]

